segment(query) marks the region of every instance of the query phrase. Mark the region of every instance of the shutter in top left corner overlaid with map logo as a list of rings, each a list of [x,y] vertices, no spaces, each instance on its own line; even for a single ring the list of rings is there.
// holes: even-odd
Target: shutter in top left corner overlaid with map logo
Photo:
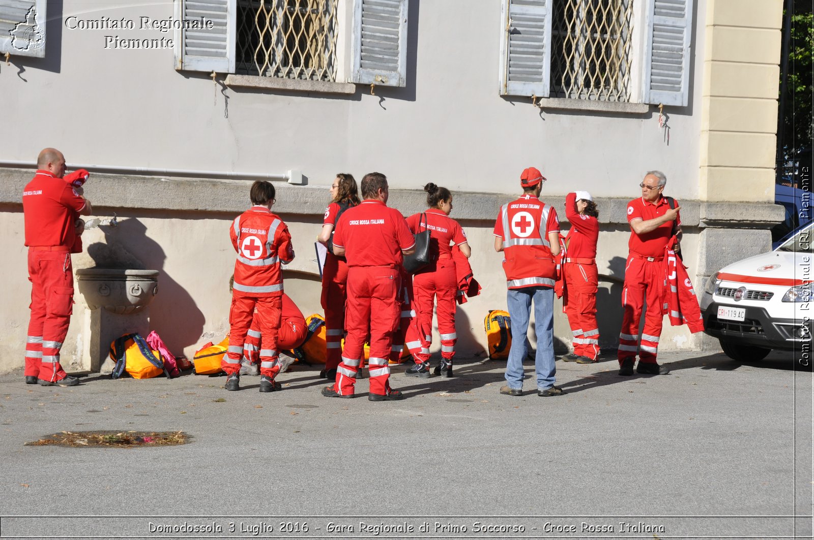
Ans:
[[[0,53],[46,55],[46,0],[0,0]]]

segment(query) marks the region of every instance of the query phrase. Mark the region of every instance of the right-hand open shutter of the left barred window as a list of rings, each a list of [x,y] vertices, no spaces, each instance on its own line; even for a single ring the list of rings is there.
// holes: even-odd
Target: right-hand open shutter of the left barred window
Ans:
[[[404,86],[408,0],[355,0],[352,82]]]

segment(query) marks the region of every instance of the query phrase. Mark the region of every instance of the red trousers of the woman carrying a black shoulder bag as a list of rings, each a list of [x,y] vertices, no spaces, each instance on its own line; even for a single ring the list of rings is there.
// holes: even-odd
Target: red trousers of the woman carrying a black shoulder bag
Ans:
[[[440,259],[435,270],[420,272],[413,277],[415,305],[418,313],[418,337],[421,349],[430,356],[432,343],[432,308],[437,304],[438,332],[441,335],[441,356],[450,362],[455,356],[455,295],[457,294],[457,273],[453,259]],[[435,302],[434,302],[435,300]]]

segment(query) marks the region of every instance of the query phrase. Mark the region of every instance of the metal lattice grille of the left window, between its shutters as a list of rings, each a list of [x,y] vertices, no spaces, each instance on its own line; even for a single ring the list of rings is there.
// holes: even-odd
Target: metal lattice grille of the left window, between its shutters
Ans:
[[[335,81],[339,0],[238,0],[236,71]]]

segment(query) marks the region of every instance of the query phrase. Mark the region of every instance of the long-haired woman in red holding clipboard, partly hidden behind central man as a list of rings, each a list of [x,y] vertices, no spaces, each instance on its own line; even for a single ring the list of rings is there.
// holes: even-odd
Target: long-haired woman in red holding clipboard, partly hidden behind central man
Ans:
[[[342,338],[345,328],[345,301],[348,296],[345,284],[348,281],[348,263],[344,257],[337,257],[333,253],[333,244],[330,242],[334,234],[339,216],[348,208],[359,204],[359,190],[353,175],[340,172],[330,185],[330,204],[325,211],[325,220],[322,221],[322,231],[317,242],[328,247],[325,267],[322,268],[322,309],[325,310],[325,369],[320,372],[321,377],[334,381],[336,368],[342,356]]]

